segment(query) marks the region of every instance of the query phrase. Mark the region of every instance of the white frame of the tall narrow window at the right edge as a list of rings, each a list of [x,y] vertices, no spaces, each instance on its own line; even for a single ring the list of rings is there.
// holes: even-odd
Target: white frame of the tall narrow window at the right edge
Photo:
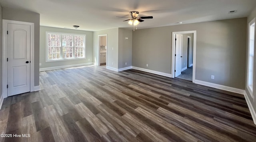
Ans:
[[[255,28],[256,28],[256,23],[255,23],[255,18],[249,23],[249,26],[248,26],[248,55],[247,55],[247,77],[246,77],[246,88],[247,88],[247,90],[248,90],[248,92],[249,92],[249,94],[252,96],[252,98],[254,98],[254,96],[253,96],[253,86],[255,85],[255,83],[256,82],[254,82],[254,78],[255,78],[255,74],[254,74],[254,72],[255,72],[255,70],[254,70],[254,68],[255,68],[255,37],[256,37],[256,32],[255,32],[255,28],[254,28],[254,58],[253,58],[253,64],[254,64],[254,67],[253,67],[253,78],[252,78],[252,84],[253,84],[253,86],[252,86],[252,88],[249,86],[249,61],[250,61],[250,27],[253,25],[253,24],[255,24]]]

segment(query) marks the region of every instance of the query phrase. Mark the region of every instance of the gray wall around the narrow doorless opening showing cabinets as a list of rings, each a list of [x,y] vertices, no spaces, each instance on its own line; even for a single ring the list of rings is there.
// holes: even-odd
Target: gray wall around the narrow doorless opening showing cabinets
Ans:
[[[118,28],[93,32],[93,60],[98,64],[98,35],[107,34],[107,66],[118,68]],[[113,50],[112,50],[113,48]],[[112,65],[113,62],[113,65]]]

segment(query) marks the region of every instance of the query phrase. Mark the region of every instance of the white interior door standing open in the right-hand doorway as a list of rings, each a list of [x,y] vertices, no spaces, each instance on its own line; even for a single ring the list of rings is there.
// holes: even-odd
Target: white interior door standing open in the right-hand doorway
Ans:
[[[175,44],[175,77],[181,74],[182,64],[182,34],[176,34]]]

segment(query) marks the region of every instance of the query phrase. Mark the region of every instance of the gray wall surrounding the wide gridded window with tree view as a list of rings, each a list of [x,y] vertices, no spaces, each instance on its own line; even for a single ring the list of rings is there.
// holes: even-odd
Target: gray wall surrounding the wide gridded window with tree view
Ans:
[[[47,48],[46,47],[46,32],[86,34],[86,58],[79,59],[79,60],[46,62],[46,48]],[[93,36],[93,32],[89,32],[89,31],[40,26],[40,63],[42,63],[42,66],[40,66],[40,68],[49,68],[49,67],[55,67],[55,66],[66,66],[66,65],[72,65],[72,64],[83,64],[83,63],[93,62],[93,59],[92,59],[92,41],[93,41],[92,36]],[[90,61],[88,59],[90,59]]]

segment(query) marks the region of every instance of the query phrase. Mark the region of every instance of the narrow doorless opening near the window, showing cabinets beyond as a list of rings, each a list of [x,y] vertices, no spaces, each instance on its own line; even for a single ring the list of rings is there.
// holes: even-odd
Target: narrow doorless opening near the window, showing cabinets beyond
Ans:
[[[107,65],[107,34],[102,34],[98,36],[98,66],[106,66]]]

